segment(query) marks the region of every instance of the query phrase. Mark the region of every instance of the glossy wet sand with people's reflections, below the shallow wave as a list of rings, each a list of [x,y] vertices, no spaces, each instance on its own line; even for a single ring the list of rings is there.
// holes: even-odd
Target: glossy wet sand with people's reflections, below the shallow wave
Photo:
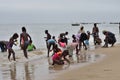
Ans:
[[[89,53],[89,51],[81,51],[79,55],[74,54],[70,58],[70,64],[65,62],[64,65],[52,66],[51,58],[47,58],[45,55],[41,56],[41,58],[32,61],[1,65],[0,76],[3,78],[1,80],[52,80],[52,77],[60,71],[94,62],[101,57],[101,55]]]

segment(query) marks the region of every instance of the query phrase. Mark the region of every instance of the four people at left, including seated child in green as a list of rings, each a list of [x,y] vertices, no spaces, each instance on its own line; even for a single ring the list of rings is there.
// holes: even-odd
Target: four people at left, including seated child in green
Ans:
[[[10,37],[9,41],[0,41],[1,51],[5,52],[8,50],[8,59],[11,61],[11,54],[13,56],[13,60],[16,61],[15,52],[13,50],[13,45],[17,45],[17,38],[19,35],[14,33],[12,37]],[[20,34],[20,47],[23,50],[25,58],[28,59],[27,51],[31,51],[36,49],[36,47],[32,44],[31,36],[26,32],[26,28],[22,27],[22,33]]]

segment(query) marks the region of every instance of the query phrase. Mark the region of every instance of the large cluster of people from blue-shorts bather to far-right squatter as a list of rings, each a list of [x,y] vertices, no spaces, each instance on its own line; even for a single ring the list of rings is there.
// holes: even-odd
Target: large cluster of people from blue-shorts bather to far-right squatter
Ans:
[[[94,27],[92,29],[92,33],[90,31],[85,32],[84,26],[80,27],[80,30],[75,35],[72,35],[72,42],[68,43],[69,38],[67,37],[68,32],[60,33],[58,40],[55,39],[55,36],[51,36],[48,30],[45,30],[46,45],[47,45],[47,56],[49,57],[50,51],[53,51],[52,60],[53,64],[63,64],[63,60],[66,60],[70,63],[69,59],[66,56],[72,57],[73,50],[76,50],[76,55],[79,54],[81,47],[87,50],[87,46],[89,46],[90,35],[93,36],[94,45],[100,45],[102,43],[101,38],[99,37],[99,28],[97,27],[97,23],[94,23]],[[108,47],[108,44],[113,46],[116,42],[115,34],[110,31],[103,31],[105,35],[104,46]],[[52,46],[52,47],[51,47]],[[57,46],[57,47],[56,47]],[[60,47],[60,48],[58,48]],[[63,58],[63,55],[66,54]],[[61,60],[63,59],[63,60]]]

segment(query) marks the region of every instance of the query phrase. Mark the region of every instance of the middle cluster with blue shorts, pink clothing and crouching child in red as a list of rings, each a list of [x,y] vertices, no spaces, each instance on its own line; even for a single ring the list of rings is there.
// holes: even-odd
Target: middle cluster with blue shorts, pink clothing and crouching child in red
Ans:
[[[52,60],[53,64],[64,64],[64,60],[66,60],[68,63],[70,61],[66,58],[69,56],[69,51],[67,49],[62,50],[60,47],[65,48],[67,45],[68,38],[65,36],[68,34],[68,32],[61,33],[59,35],[58,41],[55,39],[55,36],[51,36],[51,34],[48,32],[48,30],[45,30],[45,34],[47,35],[46,38],[46,46],[47,46],[47,57],[49,57],[50,51],[53,51],[52,54]],[[60,47],[59,47],[60,46]]]

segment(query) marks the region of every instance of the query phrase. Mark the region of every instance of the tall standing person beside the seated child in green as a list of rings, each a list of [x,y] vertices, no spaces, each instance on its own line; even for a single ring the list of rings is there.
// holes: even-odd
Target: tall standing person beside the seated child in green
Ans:
[[[26,32],[26,28],[22,27],[22,33],[20,34],[20,46],[26,58],[28,58],[27,47],[30,41],[32,41],[30,35]]]

